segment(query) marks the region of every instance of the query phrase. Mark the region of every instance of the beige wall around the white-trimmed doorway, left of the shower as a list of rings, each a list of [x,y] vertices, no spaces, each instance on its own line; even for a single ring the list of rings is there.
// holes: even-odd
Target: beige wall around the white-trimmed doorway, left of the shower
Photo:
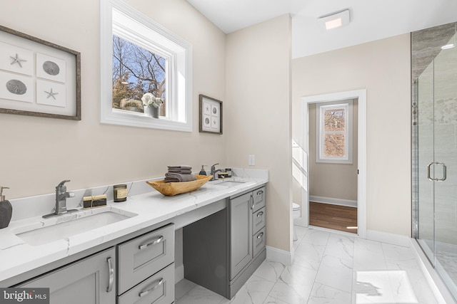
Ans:
[[[366,88],[367,229],[411,236],[409,34],[292,61],[293,138],[300,98]]]

